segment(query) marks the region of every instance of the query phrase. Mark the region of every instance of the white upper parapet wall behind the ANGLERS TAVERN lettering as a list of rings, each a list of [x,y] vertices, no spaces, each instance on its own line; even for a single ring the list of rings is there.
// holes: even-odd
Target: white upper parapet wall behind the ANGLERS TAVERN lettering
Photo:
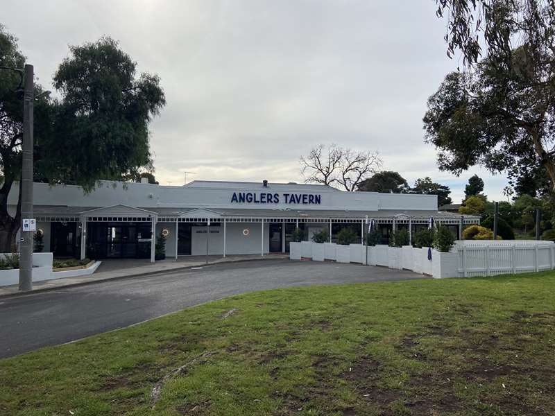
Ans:
[[[229,184],[228,184],[229,185]],[[304,187],[302,184],[263,188],[262,184],[237,183],[237,187],[164,187],[155,184],[135,184],[103,181],[91,193],[74,185],[36,183],[33,189],[35,205],[60,205],[69,207],[109,207],[129,205],[131,207],[205,207],[205,208],[250,208],[250,209],[338,209],[345,211],[376,211],[377,209],[437,209],[434,195],[343,192],[322,187],[321,190]],[[279,204],[231,203],[234,192],[279,193]],[[17,204],[19,187],[13,186],[8,205]],[[321,196],[320,205],[285,204],[284,193],[307,193]]]

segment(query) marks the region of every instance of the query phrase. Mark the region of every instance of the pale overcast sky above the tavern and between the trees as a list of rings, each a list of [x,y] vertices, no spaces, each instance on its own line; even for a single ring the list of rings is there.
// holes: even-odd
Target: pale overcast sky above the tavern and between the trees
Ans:
[[[157,73],[167,106],[151,125],[155,176],[298,181],[298,158],[335,142],[378,150],[412,184],[463,197],[478,173],[490,199],[506,178],[440,172],[423,142],[426,100],[456,69],[433,0],[2,0],[0,23],[51,87],[68,44],[110,35]],[[188,179],[189,179],[188,178]]]

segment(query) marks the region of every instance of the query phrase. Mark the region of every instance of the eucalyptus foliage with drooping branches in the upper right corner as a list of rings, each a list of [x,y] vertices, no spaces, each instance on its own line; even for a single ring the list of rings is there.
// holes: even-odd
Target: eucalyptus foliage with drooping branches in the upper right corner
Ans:
[[[428,101],[426,141],[439,167],[481,164],[518,180],[540,165],[555,190],[555,1],[436,3],[447,55],[459,51],[466,64]]]

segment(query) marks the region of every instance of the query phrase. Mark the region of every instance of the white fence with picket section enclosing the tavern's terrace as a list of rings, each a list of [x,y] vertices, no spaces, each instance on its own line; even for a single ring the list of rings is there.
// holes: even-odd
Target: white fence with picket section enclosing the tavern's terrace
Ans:
[[[451,252],[428,248],[402,248],[361,244],[339,245],[302,241],[289,245],[289,257],[337,263],[361,263],[393,269],[413,270],[433,277],[493,276],[555,269],[552,241],[456,241]],[[367,252],[368,250],[368,252]]]

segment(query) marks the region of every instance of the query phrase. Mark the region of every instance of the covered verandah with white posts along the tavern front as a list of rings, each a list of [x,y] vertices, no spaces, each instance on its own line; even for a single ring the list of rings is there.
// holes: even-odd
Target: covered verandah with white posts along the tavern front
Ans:
[[[41,207],[41,210],[46,211],[46,207]],[[63,219],[78,224],[78,248],[75,252],[81,259],[85,259],[87,255],[94,257],[94,239],[91,233],[95,225],[103,224],[112,228],[108,229],[108,233],[103,230],[108,235],[106,241],[101,241],[101,245],[105,244],[108,251],[101,255],[148,258],[151,262],[155,261],[155,244],[160,235],[166,237],[165,255],[170,258],[178,259],[185,255],[227,257],[239,254],[258,254],[264,257],[271,252],[287,252],[291,232],[298,227],[305,229],[305,239],[310,239],[314,232],[327,228],[330,242],[334,241],[341,227],[352,227],[356,229],[361,243],[364,243],[368,222],[373,218],[375,224],[383,227],[387,235],[400,227],[407,227],[411,243],[413,232],[418,227],[427,226],[430,216],[434,216],[437,225],[453,227],[459,238],[463,225],[479,223],[479,218],[475,216],[432,210],[142,209],[116,205],[80,209],[71,213],[60,207],[48,207],[47,211],[38,219],[50,222]],[[56,212],[64,213],[65,216],[57,216]],[[120,228],[114,231],[116,226]],[[113,239],[110,233],[113,234]],[[188,251],[183,250],[184,247],[187,248],[183,243],[186,239],[189,239]]]

